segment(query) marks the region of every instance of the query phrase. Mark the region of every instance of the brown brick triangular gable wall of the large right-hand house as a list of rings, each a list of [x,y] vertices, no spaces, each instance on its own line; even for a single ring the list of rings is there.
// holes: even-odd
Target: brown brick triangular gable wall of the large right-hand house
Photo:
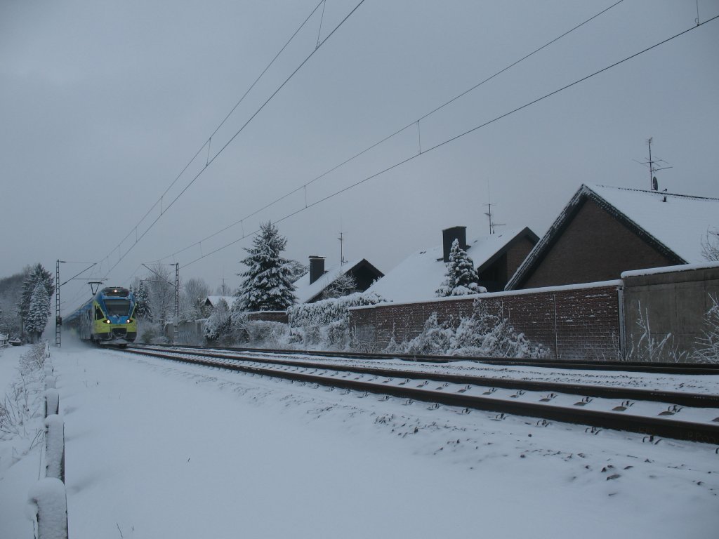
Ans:
[[[587,200],[521,288],[618,279],[621,272],[673,263]]]

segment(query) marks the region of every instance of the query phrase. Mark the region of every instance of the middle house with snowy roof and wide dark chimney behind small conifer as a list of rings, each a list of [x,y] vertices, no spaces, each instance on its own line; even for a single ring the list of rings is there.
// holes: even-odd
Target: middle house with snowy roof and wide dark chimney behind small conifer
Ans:
[[[444,281],[449,250],[455,239],[472,258],[480,277],[480,286],[494,292],[503,290],[539,237],[525,227],[467,241],[467,227],[444,229],[440,245],[411,254],[372,285],[370,292],[377,292],[386,300],[395,302],[435,298],[436,290]]]

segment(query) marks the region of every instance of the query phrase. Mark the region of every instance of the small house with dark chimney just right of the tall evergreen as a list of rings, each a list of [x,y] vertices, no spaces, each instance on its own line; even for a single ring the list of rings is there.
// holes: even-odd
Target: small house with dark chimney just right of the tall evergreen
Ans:
[[[327,270],[324,267],[324,257],[311,256],[309,259],[309,272],[295,281],[297,303],[314,303],[321,300],[327,287],[340,275],[352,277],[357,284],[357,292],[365,292],[372,282],[384,275],[364,258],[336,264]]]

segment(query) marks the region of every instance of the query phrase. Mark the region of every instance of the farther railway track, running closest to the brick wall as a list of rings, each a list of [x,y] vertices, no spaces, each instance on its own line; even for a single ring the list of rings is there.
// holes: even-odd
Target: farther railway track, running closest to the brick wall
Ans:
[[[141,345],[134,345],[135,347]],[[154,346],[154,345],[152,345]],[[420,354],[379,354],[365,352],[343,352],[324,350],[264,349],[228,347],[223,349],[193,345],[175,344],[175,349],[206,349],[212,351],[242,352],[247,354],[272,354],[282,356],[324,356],[344,359],[401,359],[425,363],[455,363],[472,361],[488,365],[551,367],[554,369],[612,370],[624,372],[651,372],[661,374],[719,374],[719,364],[710,363],[649,363],[646,361],[590,361],[576,359],[516,359],[475,356],[426,356]],[[149,348],[149,347],[148,347]]]

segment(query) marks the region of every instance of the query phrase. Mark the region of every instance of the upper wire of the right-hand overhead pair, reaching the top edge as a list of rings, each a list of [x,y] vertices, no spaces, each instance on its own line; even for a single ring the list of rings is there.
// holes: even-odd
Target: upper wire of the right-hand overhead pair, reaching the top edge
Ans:
[[[429,116],[431,116],[432,114],[435,114],[436,112],[439,112],[441,109],[444,109],[444,107],[448,106],[448,105],[451,104],[451,103],[454,103],[454,101],[457,101],[459,98],[462,98],[463,96],[466,96],[467,93],[470,93],[470,92],[476,90],[477,88],[479,88],[479,87],[482,86],[483,84],[488,83],[490,80],[493,80],[494,78],[498,77],[498,76],[501,75],[502,73],[505,73],[505,71],[510,70],[511,68],[515,67],[516,65],[518,65],[518,64],[521,63],[521,62],[523,62],[524,60],[527,60],[529,57],[531,57],[531,56],[533,56],[533,55],[536,55],[536,53],[540,52],[541,50],[546,49],[546,47],[549,47],[550,45],[553,45],[554,43],[558,42],[559,40],[562,40],[563,37],[566,37],[567,35],[571,34],[571,33],[574,32],[575,30],[577,30],[577,29],[583,27],[585,24],[591,22],[592,20],[596,19],[597,17],[600,17],[600,15],[605,14],[607,11],[609,11],[609,10],[612,9],[612,8],[614,8],[615,6],[618,6],[618,5],[621,4],[623,1],[624,1],[624,0],[615,1],[614,4],[611,4],[610,6],[606,7],[605,9],[603,9],[603,10],[597,12],[596,14],[592,15],[592,17],[589,17],[588,19],[585,19],[584,21],[580,22],[579,24],[576,24],[574,27],[568,29],[566,32],[560,34],[559,36],[555,37],[554,39],[552,39],[552,40],[546,42],[544,45],[541,45],[540,47],[537,47],[536,49],[532,50],[531,52],[528,52],[526,55],[523,55],[523,56],[522,56],[521,58],[519,58],[518,60],[514,61],[513,63],[510,63],[509,65],[507,65],[505,68],[502,68],[501,70],[497,71],[497,72],[494,73],[493,75],[490,75],[490,76],[484,78],[484,79],[481,80],[479,83],[476,83],[475,85],[471,86],[470,88],[467,88],[467,90],[464,90],[464,91],[462,91],[461,93],[458,93],[456,96],[450,98],[449,100],[444,101],[444,103],[441,103],[441,105],[436,106],[434,109],[432,109],[431,111],[427,112],[426,114],[423,114],[422,116],[419,116],[419,118],[414,119],[414,120],[411,121],[409,124],[406,124],[406,126],[403,126],[402,128],[397,129],[395,132],[393,132],[393,133],[391,133],[391,134],[388,134],[388,135],[387,135],[386,137],[384,137],[383,139],[378,140],[377,142],[371,144],[369,147],[366,147],[365,149],[362,149],[360,152],[357,152],[356,154],[352,155],[352,157],[349,157],[348,159],[346,159],[346,160],[340,162],[338,165],[335,165],[334,167],[331,167],[329,170],[326,170],[325,172],[322,172],[319,176],[316,176],[316,177],[313,178],[312,180],[309,180],[307,183],[304,183],[303,185],[300,185],[298,188],[295,188],[295,189],[293,189],[293,190],[290,190],[288,193],[285,193],[284,195],[281,195],[280,197],[275,198],[273,201],[270,201],[269,203],[265,204],[265,206],[262,206],[261,208],[257,208],[256,210],[252,211],[252,213],[248,213],[247,215],[243,216],[243,217],[242,217],[241,219],[239,219],[238,221],[234,221],[234,223],[229,224],[229,225],[227,225],[227,226],[224,226],[224,228],[219,229],[218,231],[213,232],[213,233],[210,234],[209,236],[205,236],[205,237],[203,237],[202,239],[196,241],[195,243],[193,243],[193,244],[191,244],[191,245],[188,245],[187,247],[183,247],[182,249],[180,249],[180,250],[178,250],[178,251],[175,251],[175,252],[173,252],[172,254],[170,254],[170,255],[168,255],[168,256],[165,256],[165,257],[162,257],[162,258],[160,258],[160,259],[158,259],[158,260],[164,260],[164,259],[167,259],[167,258],[169,258],[169,257],[175,257],[176,255],[178,255],[178,254],[180,254],[180,253],[183,253],[183,252],[187,251],[188,249],[192,249],[193,247],[197,247],[197,246],[200,245],[203,241],[207,241],[207,240],[209,240],[209,239],[212,239],[212,238],[214,238],[215,236],[218,236],[219,234],[223,233],[224,231],[227,231],[227,230],[229,230],[229,229],[232,229],[234,226],[237,226],[238,224],[241,224],[242,222],[247,221],[247,219],[249,219],[249,218],[251,218],[251,217],[254,217],[255,215],[257,215],[258,213],[260,213],[260,212],[262,212],[262,211],[265,211],[267,208],[271,208],[272,206],[275,206],[275,204],[280,203],[281,201],[285,200],[285,198],[288,198],[288,197],[290,197],[291,195],[294,195],[295,193],[298,193],[298,192],[301,191],[301,190],[304,190],[304,191],[305,191],[305,198],[306,198],[307,187],[308,187],[309,185],[312,185],[312,184],[315,183],[316,181],[321,180],[321,178],[324,178],[326,175],[331,174],[331,172],[334,172],[335,170],[337,170],[337,169],[343,167],[344,165],[347,165],[349,162],[352,162],[353,160],[357,159],[358,157],[361,157],[362,155],[365,155],[367,152],[370,152],[370,150],[375,149],[377,146],[380,146],[380,144],[383,144],[384,142],[387,142],[388,140],[392,139],[393,137],[396,137],[398,134],[400,134],[400,133],[406,131],[407,129],[409,129],[409,128],[413,127],[413,126],[415,126],[415,124],[416,124],[416,126],[417,126],[417,138],[418,138],[419,153],[422,153],[422,149],[421,149],[421,148],[422,148],[422,145],[421,145],[421,130],[420,130],[420,122],[421,122],[421,120],[428,118]],[[306,205],[306,201],[305,201],[305,205]],[[243,233],[243,236],[244,236],[244,233]]]

